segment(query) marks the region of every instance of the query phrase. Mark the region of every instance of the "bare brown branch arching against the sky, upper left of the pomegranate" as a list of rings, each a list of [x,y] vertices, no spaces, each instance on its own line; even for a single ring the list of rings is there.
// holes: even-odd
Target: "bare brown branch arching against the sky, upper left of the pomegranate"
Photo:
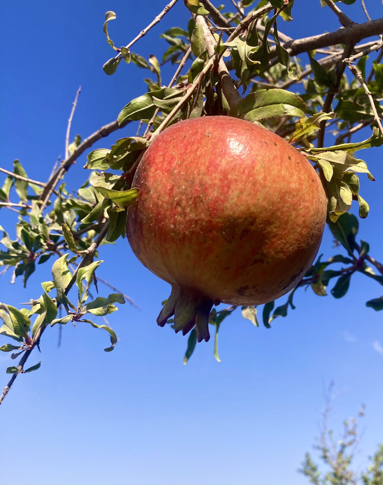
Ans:
[[[76,159],[89,147],[91,147],[94,143],[96,143],[101,138],[108,136],[113,131],[117,129],[123,128],[130,120],[127,120],[122,125],[118,124],[118,121],[113,121],[105,126],[102,126],[100,129],[92,133],[88,138],[86,138],[79,146],[77,146],[76,150],[69,155],[69,157],[61,162],[59,168],[51,175],[49,180],[46,182],[46,186],[44,188],[43,193],[40,195],[40,200],[43,202],[41,205],[41,212],[46,208],[46,204],[49,201],[49,197],[52,195],[53,191],[55,190],[56,185],[58,184],[61,177],[64,175],[65,172],[68,171],[69,167],[76,162]]]

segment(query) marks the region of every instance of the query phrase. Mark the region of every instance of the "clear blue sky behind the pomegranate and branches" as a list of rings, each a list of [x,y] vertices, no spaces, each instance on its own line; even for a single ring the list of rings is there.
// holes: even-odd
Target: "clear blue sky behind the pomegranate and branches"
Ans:
[[[366,4],[371,16],[383,15],[381,2]],[[164,5],[165,0],[2,1],[1,166],[12,169],[19,158],[31,178],[47,178],[64,153],[79,85],[72,133],[83,137],[143,94],[148,72],[124,64],[112,77],[102,71],[112,55],[102,32],[104,14],[117,13],[109,30],[120,46]],[[354,20],[365,21],[359,1],[343,8]],[[338,28],[319,0],[296,0],[293,14],[292,25],[281,21],[279,27],[294,37]],[[173,25],[184,27],[186,19],[180,0],[135,50],[160,56],[166,43],[158,35]],[[171,74],[164,68],[165,82]],[[97,146],[110,147],[129,134],[131,127]],[[367,138],[369,130],[358,136]],[[363,153],[377,181],[361,177],[372,210],[360,222],[360,237],[379,260],[382,154],[382,149]],[[70,169],[69,189],[86,179],[85,159],[86,154]],[[13,213],[1,210],[0,220],[14,236]],[[334,254],[327,229],[321,252]],[[296,310],[270,330],[234,314],[220,329],[222,362],[215,361],[211,340],[199,344],[184,366],[187,339],[155,323],[169,285],[141,266],[126,240],[103,247],[101,257],[100,277],[131,295],[142,311],[127,304],[110,316],[121,339],[111,353],[103,351],[105,332],[88,326],[64,327],[60,349],[57,327],[44,334],[42,354],[31,357],[31,364],[42,360],[40,370],[19,376],[1,406],[4,484],[303,485],[306,479],[296,469],[318,436],[322,388],[331,380],[339,391],[335,429],[360,403],[367,404],[356,458],[357,467],[366,465],[365,457],[383,437],[382,313],[365,307],[368,299],[380,296],[377,283],[356,275],[342,300],[298,291]],[[41,294],[39,283],[51,279],[50,267],[40,267],[26,290],[20,279],[10,286],[9,278],[0,279],[1,301],[18,306]],[[107,294],[101,285],[100,291]],[[9,354],[0,356],[1,387],[13,363]]]

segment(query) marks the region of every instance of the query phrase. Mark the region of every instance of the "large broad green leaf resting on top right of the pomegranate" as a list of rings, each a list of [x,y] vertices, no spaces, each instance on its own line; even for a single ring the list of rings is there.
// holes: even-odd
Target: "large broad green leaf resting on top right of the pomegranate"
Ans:
[[[229,116],[247,121],[259,121],[283,115],[303,118],[306,104],[302,98],[284,89],[261,89],[248,94],[239,104],[231,108]]]

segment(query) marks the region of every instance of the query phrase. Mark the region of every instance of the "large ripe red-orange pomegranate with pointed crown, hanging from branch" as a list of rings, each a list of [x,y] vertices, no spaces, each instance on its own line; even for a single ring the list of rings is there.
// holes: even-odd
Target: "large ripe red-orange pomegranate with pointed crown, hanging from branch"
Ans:
[[[144,154],[127,236],[170,283],[158,316],[209,339],[214,303],[259,305],[291,290],[322,240],[326,196],[306,158],[276,134],[230,116],[178,122]]]

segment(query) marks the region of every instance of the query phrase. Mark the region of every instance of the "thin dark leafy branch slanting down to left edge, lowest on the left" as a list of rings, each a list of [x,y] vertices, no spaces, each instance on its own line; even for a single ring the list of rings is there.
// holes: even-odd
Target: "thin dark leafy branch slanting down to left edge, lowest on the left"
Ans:
[[[72,279],[70,280],[68,286],[65,289],[65,292],[64,292],[65,295],[67,295],[69,293],[70,289],[72,288],[72,286],[76,282],[78,270],[80,268],[86,266],[87,263],[90,260],[92,260],[93,255],[94,255],[96,249],[101,244],[101,242],[103,241],[104,237],[106,236],[108,228],[109,228],[109,221],[105,224],[105,226],[103,227],[102,231],[97,236],[96,240],[91,244],[91,246],[86,251],[83,251],[83,253],[85,253],[85,257],[80,262],[80,264],[77,266],[77,269],[76,269],[75,273],[73,274]],[[59,302],[56,302],[56,305],[59,307],[60,306],[60,303]],[[15,382],[15,379],[16,379],[17,375],[18,374],[22,374],[22,373],[25,372],[24,371],[24,365],[27,362],[29,356],[31,355],[33,349],[39,343],[40,338],[43,335],[43,332],[46,329],[47,325],[48,324],[42,323],[40,325],[40,327],[38,327],[37,330],[35,331],[34,336],[31,339],[31,343],[29,344],[28,350],[25,351],[24,355],[21,357],[21,359],[20,359],[20,361],[18,363],[17,372],[15,372],[14,374],[12,374],[11,379],[9,380],[8,384],[5,386],[4,390],[2,391],[2,394],[0,396],[0,405],[4,401],[4,398],[8,394],[8,392],[9,392],[12,384]]]

